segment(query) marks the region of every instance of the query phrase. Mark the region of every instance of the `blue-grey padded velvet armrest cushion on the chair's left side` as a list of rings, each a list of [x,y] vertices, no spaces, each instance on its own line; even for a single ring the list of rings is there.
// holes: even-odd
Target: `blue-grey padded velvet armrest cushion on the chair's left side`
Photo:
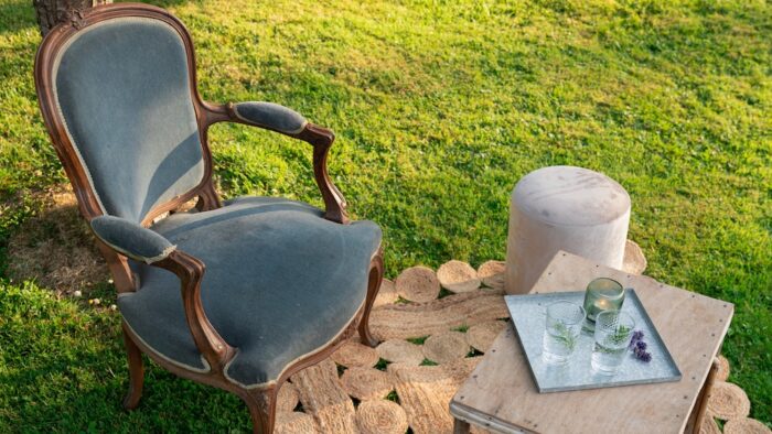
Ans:
[[[131,259],[158,262],[176,249],[163,236],[115,216],[99,216],[90,221],[94,234],[107,246]]]

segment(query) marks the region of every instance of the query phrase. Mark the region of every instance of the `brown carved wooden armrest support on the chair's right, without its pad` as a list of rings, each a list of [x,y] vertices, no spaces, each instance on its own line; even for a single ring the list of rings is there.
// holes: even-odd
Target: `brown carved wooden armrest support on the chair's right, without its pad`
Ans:
[[[335,141],[335,134],[332,131],[308,122],[304,119],[302,128],[293,131],[280,128],[278,123],[272,126],[269,121],[257,123],[239,115],[233,104],[205,104],[204,107],[207,110],[204,116],[206,127],[217,122],[237,122],[276,131],[310,143],[313,147],[313,175],[319,191],[322,194],[322,199],[324,200],[324,218],[342,225],[347,225],[350,223],[349,215],[346,214],[346,200],[328,174],[328,153],[330,152],[330,148],[332,148],[332,143]],[[278,107],[281,108],[281,106]],[[282,109],[289,110],[287,108]]]

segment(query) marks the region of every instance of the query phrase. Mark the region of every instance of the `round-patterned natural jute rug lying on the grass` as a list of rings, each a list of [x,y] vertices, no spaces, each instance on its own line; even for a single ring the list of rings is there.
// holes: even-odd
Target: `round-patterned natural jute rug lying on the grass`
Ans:
[[[643,272],[645,258],[632,241],[628,247],[626,271]],[[325,362],[293,376],[287,395],[294,401],[281,409],[294,411],[277,415],[276,432],[452,433],[448,403],[508,322],[503,272],[498,261],[478,270],[450,261],[438,272],[414,267],[395,282],[384,281],[371,315],[380,344],[373,349],[353,339]],[[718,421],[723,421],[725,433],[772,434],[748,417],[748,397],[727,382],[727,359],[719,361],[700,433],[721,433]]]

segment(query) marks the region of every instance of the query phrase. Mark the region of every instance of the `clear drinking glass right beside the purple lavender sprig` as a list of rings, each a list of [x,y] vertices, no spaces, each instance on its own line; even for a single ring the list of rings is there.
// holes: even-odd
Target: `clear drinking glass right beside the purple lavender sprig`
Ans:
[[[620,311],[604,311],[596,317],[596,343],[592,370],[613,376],[628,355],[628,344],[635,328],[632,316]]]

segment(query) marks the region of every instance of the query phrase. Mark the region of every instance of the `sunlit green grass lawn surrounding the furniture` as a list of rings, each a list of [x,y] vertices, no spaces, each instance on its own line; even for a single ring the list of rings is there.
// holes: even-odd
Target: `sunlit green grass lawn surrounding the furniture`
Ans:
[[[192,31],[203,96],[270,100],[337,134],[330,171],[384,228],[387,273],[505,254],[537,167],[618,180],[647,274],[730,301],[730,380],[772,423],[772,7],[748,1],[154,1]],[[39,116],[26,0],[0,0],[0,249],[65,181]],[[211,134],[227,196],[321,204],[309,148]],[[7,258],[0,252],[0,273]],[[0,431],[247,431],[225,392],[150,368],[120,410],[117,314],[0,290]]]

